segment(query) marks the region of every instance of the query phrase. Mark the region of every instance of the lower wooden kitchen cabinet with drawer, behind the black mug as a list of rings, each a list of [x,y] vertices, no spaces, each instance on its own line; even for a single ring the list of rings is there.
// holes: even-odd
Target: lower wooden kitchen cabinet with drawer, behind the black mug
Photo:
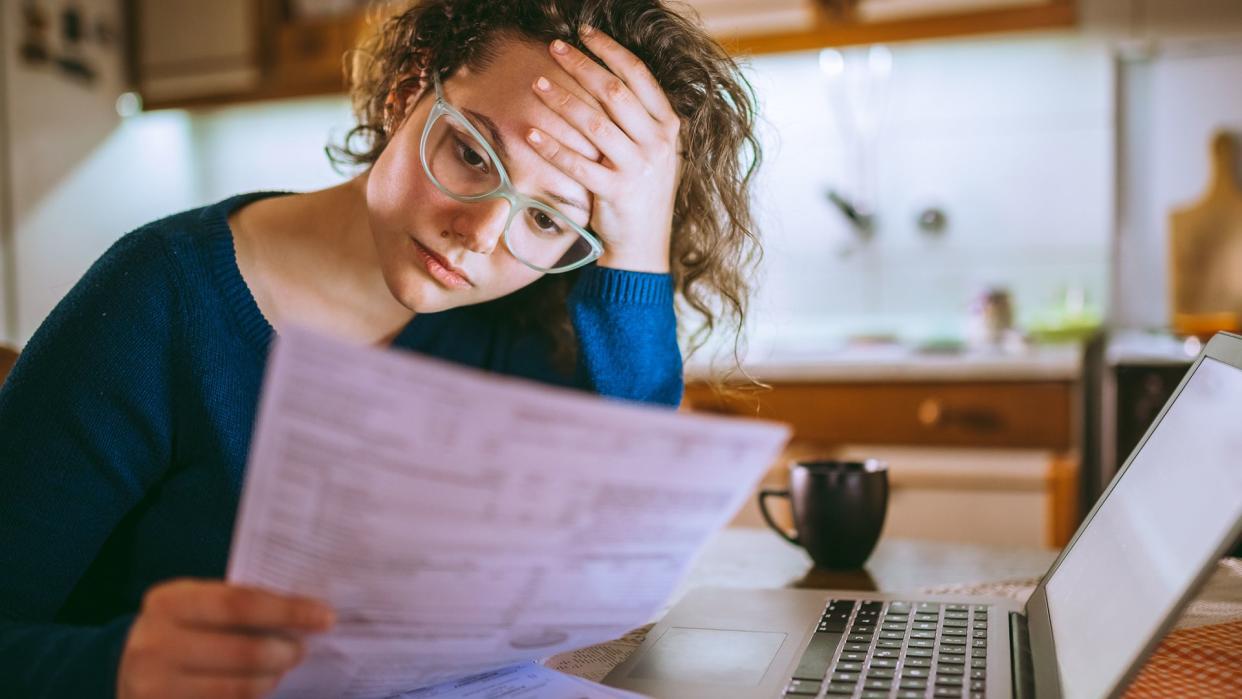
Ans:
[[[1078,384],[1071,380],[780,381],[720,396],[687,386],[691,411],[786,422],[789,461],[891,463],[886,535],[1059,546],[1078,526]],[[755,524],[753,508],[738,523]]]

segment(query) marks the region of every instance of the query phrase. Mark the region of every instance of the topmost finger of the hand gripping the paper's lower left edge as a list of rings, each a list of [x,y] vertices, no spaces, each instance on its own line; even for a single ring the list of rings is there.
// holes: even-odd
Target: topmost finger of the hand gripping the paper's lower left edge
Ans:
[[[193,580],[153,589],[143,607],[144,612],[199,627],[315,632],[333,623],[332,610],[317,600]]]

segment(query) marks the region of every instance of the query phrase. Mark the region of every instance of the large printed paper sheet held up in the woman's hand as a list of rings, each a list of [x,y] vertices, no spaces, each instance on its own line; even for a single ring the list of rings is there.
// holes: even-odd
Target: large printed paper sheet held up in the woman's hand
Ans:
[[[229,580],[337,611],[278,697],[545,658],[652,621],[787,436],[289,329]]]

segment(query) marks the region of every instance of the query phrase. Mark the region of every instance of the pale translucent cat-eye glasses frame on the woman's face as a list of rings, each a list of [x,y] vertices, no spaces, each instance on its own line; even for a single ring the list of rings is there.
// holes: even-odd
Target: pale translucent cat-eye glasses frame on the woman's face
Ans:
[[[435,185],[436,189],[442,191],[445,195],[462,202],[487,201],[491,199],[503,199],[508,201],[509,217],[505,219],[504,221],[504,233],[503,233],[504,246],[509,250],[513,257],[515,257],[519,262],[522,262],[527,267],[530,267],[532,269],[554,274],[559,272],[569,272],[570,269],[576,269],[584,264],[590,264],[591,262],[599,259],[600,255],[604,253],[604,245],[600,242],[600,240],[595,237],[595,235],[592,235],[590,231],[587,231],[582,226],[579,226],[573,220],[570,220],[569,216],[566,216],[561,211],[558,211],[555,207],[544,204],[538,199],[527,196],[519,192],[518,190],[513,189],[513,181],[509,180],[509,174],[505,171],[504,164],[501,163],[501,158],[492,149],[492,145],[487,142],[486,138],[483,138],[483,134],[474,127],[473,123],[471,123],[469,119],[467,119],[461,112],[458,112],[452,104],[450,104],[445,99],[445,91],[443,87],[441,87],[440,84],[440,76],[433,76],[432,83],[435,84],[436,88],[436,103],[432,106],[431,112],[427,114],[427,123],[422,127],[422,138],[419,140],[419,160],[422,163],[422,170],[424,173],[426,173],[427,179],[431,180],[431,184]],[[436,174],[432,171],[432,168],[427,161],[427,140],[431,137],[432,128],[436,125],[436,122],[446,115],[452,117],[452,119],[458,125],[465,128],[469,133],[469,135],[478,142],[478,145],[486,151],[488,159],[491,159],[491,161],[494,164],[498,175],[498,184],[496,185],[496,187],[484,191],[482,194],[466,195],[452,191],[451,189],[445,186],[438,178],[436,178]],[[544,267],[533,263],[525,257],[523,257],[523,255],[518,250],[518,247],[520,246],[514,246],[509,230],[513,226],[513,220],[523,215],[523,212],[525,212],[528,209],[537,209],[568,223],[574,230],[574,232],[581,236],[581,238],[589,246],[589,250],[585,252],[585,257],[558,267]]]

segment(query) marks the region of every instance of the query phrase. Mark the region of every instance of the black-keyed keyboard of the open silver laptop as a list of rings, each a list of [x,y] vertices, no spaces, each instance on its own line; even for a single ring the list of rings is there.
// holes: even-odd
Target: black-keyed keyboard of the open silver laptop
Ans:
[[[832,600],[785,697],[982,699],[987,606]]]

